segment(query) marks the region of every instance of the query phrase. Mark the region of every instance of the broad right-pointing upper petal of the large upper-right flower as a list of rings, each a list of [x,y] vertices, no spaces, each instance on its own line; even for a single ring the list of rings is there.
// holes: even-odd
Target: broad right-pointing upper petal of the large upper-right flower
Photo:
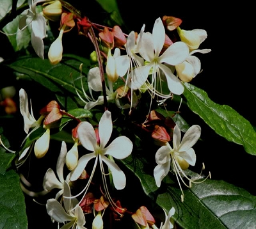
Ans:
[[[189,55],[189,47],[184,42],[175,42],[166,51],[163,55],[159,57],[161,63],[168,63],[169,65],[179,65]]]

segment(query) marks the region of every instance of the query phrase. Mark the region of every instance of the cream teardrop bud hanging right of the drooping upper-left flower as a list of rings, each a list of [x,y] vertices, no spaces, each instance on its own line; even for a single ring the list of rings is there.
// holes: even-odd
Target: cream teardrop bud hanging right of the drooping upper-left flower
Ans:
[[[62,36],[58,36],[58,38],[51,44],[48,52],[48,58],[52,65],[56,65],[61,61],[62,52]]]

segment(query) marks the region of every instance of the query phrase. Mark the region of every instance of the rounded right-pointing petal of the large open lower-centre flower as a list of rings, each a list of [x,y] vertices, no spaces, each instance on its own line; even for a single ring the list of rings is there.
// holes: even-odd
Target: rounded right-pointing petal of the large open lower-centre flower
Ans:
[[[104,154],[111,155],[116,159],[124,159],[128,157],[132,152],[132,142],[125,136],[120,136],[110,143],[110,145],[104,149]]]

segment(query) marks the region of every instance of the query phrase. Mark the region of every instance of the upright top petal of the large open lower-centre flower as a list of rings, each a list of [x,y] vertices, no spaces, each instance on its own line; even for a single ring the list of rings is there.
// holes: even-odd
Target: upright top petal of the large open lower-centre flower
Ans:
[[[110,111],[105,111],[102,114],[99,122],[99,137],[100,137],[100,148],[104,148],[111,137],[113,130],[112,118]]]

